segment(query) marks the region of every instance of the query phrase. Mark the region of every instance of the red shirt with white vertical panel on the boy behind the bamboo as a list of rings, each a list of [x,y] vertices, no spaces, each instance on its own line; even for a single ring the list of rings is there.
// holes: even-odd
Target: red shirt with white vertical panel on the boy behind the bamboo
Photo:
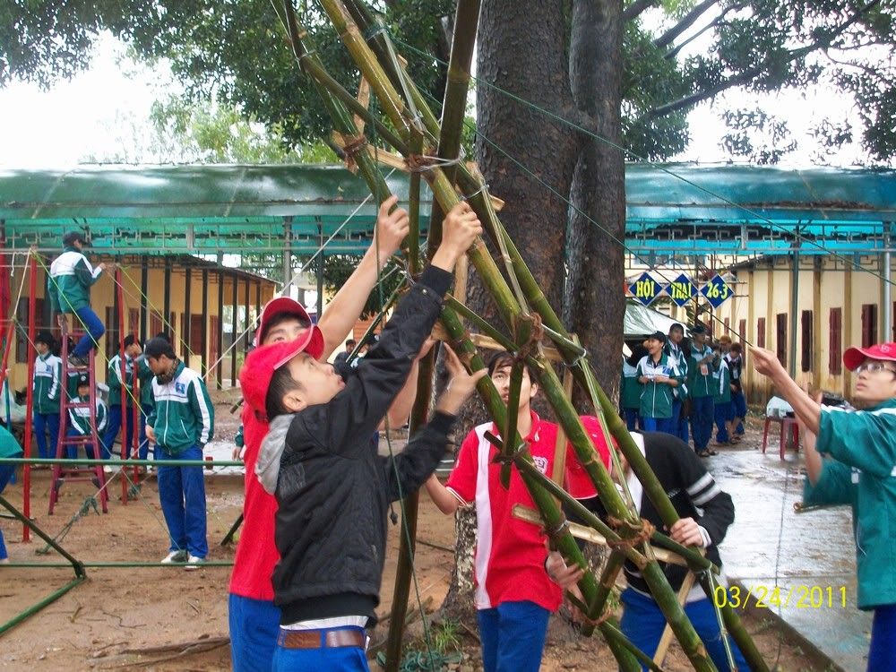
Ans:
[[[601,461],[609,464],[609,452],[597,418],[582,418]],[[545,572],[547,536],[530,522],[513,517],[513,505],[534,507],[520,473],[511,470],[510,487],[501,485],[497,448],[486,438],[498,435],[493,423],[479,425],[461,444],[457,463],[446,486],[462,503],[476,504],[477,548],[474,564],[476,607],[487,609],[503,602],[529,600],[556,611],[563,599],[560,586]],[[526,437],[532,460],[548,477],[554,470],[557,426],[532,413],[532,429]],[[573,447],[566,446],[564,487],[576,499],[597,495]]]

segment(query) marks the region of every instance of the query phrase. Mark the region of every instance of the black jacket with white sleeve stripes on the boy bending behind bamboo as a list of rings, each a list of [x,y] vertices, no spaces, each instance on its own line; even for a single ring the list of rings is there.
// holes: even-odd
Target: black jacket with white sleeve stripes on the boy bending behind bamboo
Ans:
[[[709,535],[711,544],[706,557],[721,565],[719,543],[725,538],[728,526],[734,522],[734,503],[731,495],[723,492],[715,478],[703,466],[694,451],[676,436],[663,432],[643,432],[644,455],[650,469],[659,478],[669,500],[681,518],[693,518]],[[634,495],[634,494],[633,494]],[[597,498],[595,498],[597,499]],[[641,497],[641,517],[663,530],[663,521],[647,496]],[[635,503],[637,504],[637,502]],[[598,504],[599,506],[599,504]],[[604,512],[598,512],[606,516]],[[681,588],[687,568],[677,564],[660,563],[673,590]],[[637,567],[625,564],[625,578],[629,585],[645,593],[650,590]]]

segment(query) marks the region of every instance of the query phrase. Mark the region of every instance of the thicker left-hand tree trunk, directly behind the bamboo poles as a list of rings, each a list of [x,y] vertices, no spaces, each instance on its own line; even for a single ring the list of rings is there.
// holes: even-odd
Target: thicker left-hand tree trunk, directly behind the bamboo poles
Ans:
[[[566,22],[559,0],[484,0],[479,15],[477,76],[538,106],[564,108],[572,105],[565,43]],[[500,213],[504,226],[548,300],[559,310],[567,207],[504,152],[559,194],[568,194],[573,178],[574,135],[566,126],[552,123],[540,112],[484,83],[477,87],[477,113],[479,168],[492,194],[506,203]],[[494,303],[475,273],[470,273],[467,305],[503,328]],[[468,404],[461,412],[461,440],[472,426],[483,421],[480,408],[478,403]],[[473,603],[475,515],[459,516],[456,527],[457,564],[444,603],[450,616],[469,614],[467,609]]]

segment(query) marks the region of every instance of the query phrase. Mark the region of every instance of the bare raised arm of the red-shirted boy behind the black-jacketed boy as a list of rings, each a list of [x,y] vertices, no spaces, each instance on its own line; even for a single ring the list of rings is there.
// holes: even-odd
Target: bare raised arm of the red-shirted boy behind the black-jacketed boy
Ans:
[[[329,358],[333,350],[349,335],[358,322],[367,297],[379,280],[379,272],[389,257],[401,247],[401,241],[408,236],[410,220],[408,212],[392,207],[398,203],[397,196],[390,196],[380,205],[374,229],[374,243],[367,248],[358,268],[342,285],[330,305],[321,315],[318,326],[323,332],[323,359]],[[390,212],[392,210],[392,212]]]

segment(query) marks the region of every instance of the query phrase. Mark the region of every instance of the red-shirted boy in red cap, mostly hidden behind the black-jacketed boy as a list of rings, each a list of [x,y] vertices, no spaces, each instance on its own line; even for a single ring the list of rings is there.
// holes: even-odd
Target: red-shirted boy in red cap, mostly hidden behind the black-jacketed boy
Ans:
[[[349,280],[333,297],[321,316],[318,326],[323,335],[321,358],[328,358],[351,331],[364,308],[366,297],[374,288],[378,272],[401,246],[409,233],[407,211],[392,208],[398,199],[387,199],[380,206],[376,220],[376,245],[370,246]],[[289,297],[276,297],[264,306],[254,346],[296,340],[311,327],[305,307]],[[409,388],[416,390],[417,366],[412,367]],[[411,398],[396,401],[392,426],[401,426],[407,419]],[[246,463],[244,525],[237,544],[228,597],[231,662],[236,672],[270,669],[277,634],[280,630],[280,609],[274,605],[271,574],[280,559],[274,544],[274,516],[277,500],[266,493],[254,476],[255,461],[264,435],[268,432],[264,400],[254,406],[246,399],[243,409],[242,458]],[[396,408],[399,407],[400,408]]]

